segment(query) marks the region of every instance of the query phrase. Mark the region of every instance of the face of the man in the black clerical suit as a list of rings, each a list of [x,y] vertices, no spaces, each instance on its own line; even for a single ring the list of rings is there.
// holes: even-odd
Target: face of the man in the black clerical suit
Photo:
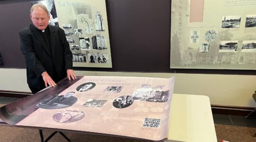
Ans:
[[[48,26],[50,15],[48,15],[44,9],[37,7],[30,14],[30,18],[37,29],[44,30]]]

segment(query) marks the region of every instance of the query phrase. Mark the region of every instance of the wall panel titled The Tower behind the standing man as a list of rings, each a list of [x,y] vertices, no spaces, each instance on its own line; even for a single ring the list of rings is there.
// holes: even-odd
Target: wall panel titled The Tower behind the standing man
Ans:
[[[50,12],[49,24],[64,29],[73,67],[112,68],[105,0],[37,0]]]

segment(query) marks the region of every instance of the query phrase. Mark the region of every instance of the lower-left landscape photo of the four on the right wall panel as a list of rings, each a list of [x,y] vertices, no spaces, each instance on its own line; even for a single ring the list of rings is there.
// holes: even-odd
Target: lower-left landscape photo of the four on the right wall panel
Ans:
[[[219,52],[237,52],[238,41],[221,41]]]

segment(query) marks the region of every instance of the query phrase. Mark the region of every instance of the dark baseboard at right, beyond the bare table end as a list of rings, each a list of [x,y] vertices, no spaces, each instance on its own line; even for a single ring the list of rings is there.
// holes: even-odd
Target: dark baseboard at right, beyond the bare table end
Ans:
[[[247,116],[255,107],[211,105],[212,114]],[[250,115],[256,117],[256,111]]]

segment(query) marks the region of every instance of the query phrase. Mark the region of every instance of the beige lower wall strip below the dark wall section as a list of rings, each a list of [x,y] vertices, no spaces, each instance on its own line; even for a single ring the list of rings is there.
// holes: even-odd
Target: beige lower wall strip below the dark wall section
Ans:
[[[174,73],[75,71],[77,76],[136,76],[169,78]],[[25,69],[0,69],[0,90],[30,91]],[[256,76],[219,74],[175,74],[174,93],[206,95],[214,105],[256,107],[252,94]],[[182,104],[181,104],[182,105]]]

